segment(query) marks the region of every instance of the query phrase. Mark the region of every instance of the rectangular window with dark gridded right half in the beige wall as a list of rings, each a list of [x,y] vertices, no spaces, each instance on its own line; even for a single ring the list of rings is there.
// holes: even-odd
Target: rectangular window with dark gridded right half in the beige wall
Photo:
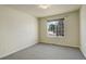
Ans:
[[[47,22],[47,34],[49,37],[64,36],[64,18],[50,20]]]

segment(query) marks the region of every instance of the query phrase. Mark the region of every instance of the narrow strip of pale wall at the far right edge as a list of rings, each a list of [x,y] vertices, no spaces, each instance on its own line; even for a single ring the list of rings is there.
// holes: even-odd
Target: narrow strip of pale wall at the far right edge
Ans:
[[[86,5],[81,8],[81,50],[86,56]]]

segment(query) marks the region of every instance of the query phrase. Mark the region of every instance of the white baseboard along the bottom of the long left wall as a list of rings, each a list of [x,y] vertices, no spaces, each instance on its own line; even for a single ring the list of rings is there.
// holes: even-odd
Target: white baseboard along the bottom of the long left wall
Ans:
[[[5,57],[5,56],[8,56],[8,55],[10,55],[10,54],[13,54],[13,53],[15,53],[15,52],[17,52],[17,51],[21,51],[21,50],[23,50],[23,49],[26,49],[26,48],[28,48],[28,47],[32,47],[32,46],[34,46],[34,44],[36,44],[36,43],[37,43],[37,42],[28,43],[28,44],[25,44],[25,46],[23,46],[23,47],[20,47],[19,49],[15,49],[15,50],[13,50],[13,51],[11,51],[11,52],[9,52],[9,53],[5,53],[5,54],[0,55],[0,59]]]

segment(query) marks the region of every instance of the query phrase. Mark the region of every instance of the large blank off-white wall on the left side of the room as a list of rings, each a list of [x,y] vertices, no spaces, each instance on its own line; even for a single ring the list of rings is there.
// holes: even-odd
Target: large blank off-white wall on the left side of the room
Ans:
[[[37,43],[37,20],[0,5],[0,57]]]

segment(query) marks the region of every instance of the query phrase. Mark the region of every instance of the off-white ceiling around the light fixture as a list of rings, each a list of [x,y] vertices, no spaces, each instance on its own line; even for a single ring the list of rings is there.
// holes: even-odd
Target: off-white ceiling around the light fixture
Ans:
[[[38,8],[38,4],[15,4],[15,5],[7,5],[7,7],[26,12],[36,17],[44,17],[44,16],[75,11],[75,10],[78,10],[81,5],[78,4],[51,4],[50,8],[48,9],[40,9]]]

